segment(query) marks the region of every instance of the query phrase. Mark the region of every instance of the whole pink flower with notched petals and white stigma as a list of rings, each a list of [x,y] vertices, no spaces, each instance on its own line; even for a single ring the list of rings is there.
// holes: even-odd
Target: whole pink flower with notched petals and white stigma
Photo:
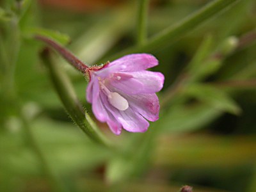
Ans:
[[[164,76],[146,70],[156,65],[158,61],[150,54],[129,54],[102,68],[88,69],[86,99],[92,103],[96,118],[107,122],[115,134],[120,134],[122,127],[130,132],[145,132],[147,120],[158,120],[156,92],[163,88]]]

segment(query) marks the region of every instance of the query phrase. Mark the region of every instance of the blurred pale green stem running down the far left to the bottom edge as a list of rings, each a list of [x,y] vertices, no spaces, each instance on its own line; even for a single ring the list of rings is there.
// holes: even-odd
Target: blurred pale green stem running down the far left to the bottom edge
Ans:
[[[17,113],[22,120],[24,131],[26,132],[26,139],[28,139],[28,143],[31,145],[31,148],[34,150],[38,160],[42,164],[42,168],[49,178],[52,189],[54,191],[65,192],[65,188],[61,186],[60,180],[58,177],[56,177],[56,175],[54,175],[51,167],[49,166],[49,163],[47,162],[47,159],[45,159],[44,153],[42,152],[38,142],[33,135],[33,132],[31,131],[28,120],[22,114],[22,105],[19,102],[19,97],[15,90],[15,68],[18,62],[20,51],[20,29],[19,19],[17,17],[13,17],[13,19],[10,20],[10,28],[8,31],[9,33],[6,38],[6,42],[8,42],[8,44],[5,44],[4,46],[3,40],[1,39],[1,42],[3,43],[3,45],[1,44],[1,54],[4,56],[2,59],[4,61],[3,65],[5,65],[4,99],[6,99],[6,102],[15,103]],[[9,45],[9,47],[6,47],[7,45]]]

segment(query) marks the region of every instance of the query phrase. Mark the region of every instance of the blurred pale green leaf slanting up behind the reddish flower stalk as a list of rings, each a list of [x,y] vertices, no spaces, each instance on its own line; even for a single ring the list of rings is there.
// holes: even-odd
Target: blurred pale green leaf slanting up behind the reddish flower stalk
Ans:
[[[132,7],[127,5],[86,29],[70,49],[88,65],[99,60],[131,28]]]

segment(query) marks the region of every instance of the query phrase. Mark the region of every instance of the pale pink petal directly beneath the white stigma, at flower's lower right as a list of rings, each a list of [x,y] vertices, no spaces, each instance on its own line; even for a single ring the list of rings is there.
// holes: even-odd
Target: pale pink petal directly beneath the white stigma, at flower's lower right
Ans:
[[[102,100],[106,109],[122,124],[125,130],[130,132],[147,131],[149,123],[139,113],[135,113],[131,107],[125,111],[120,111],[109,104],[106,95],[103,95]]]

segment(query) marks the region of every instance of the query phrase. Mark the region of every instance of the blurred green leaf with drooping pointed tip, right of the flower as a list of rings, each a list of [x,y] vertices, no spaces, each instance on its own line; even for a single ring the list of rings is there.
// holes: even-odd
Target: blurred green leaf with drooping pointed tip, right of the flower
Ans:
[[[191,84],[183,90],[183,93],[202,100],[218,110],[227,111],[235,115],[241,113],[241,109],[237,106],[236,102],[228,97],[225,92],[215,88],[214,86]]]

